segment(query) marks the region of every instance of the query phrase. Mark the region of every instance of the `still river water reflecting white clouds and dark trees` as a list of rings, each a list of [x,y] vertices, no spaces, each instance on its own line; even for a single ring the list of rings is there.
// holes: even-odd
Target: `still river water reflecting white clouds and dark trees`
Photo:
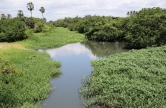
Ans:
[[[111,54],[127,51],[124,43],[85,41],[60,48],[39,50],[46,52],[55,61],[60,61],[62,75],[51,80],[55,88],[44,100],[41,108],[83,108],[79,87],[84,76],[90,75],[91,60],[102,59]]]

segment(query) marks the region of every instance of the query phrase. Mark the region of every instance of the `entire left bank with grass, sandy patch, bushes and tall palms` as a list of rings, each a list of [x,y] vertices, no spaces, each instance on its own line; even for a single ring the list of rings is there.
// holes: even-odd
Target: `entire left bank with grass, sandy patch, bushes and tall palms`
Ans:
[[[27,4],[31,17],[22,10],[17,18],[0,20],[0,108],[38,108],[52,90],[49,80],[59,75],[60,63],[35,50],[80,42],[85,36],[33,18],[32,2]],[[42,16],[44,7],[40,9]],[[10,42],[10,43],[2,43]]]

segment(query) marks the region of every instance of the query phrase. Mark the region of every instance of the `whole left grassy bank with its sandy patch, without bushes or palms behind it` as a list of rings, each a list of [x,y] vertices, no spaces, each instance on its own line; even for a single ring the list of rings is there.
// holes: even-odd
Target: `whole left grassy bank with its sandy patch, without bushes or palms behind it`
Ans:
[[[56,28],[35,33],[28,40],[0,43],[0,107],[37,108],[37,103],[52,90],[49,80],[61,73],[61,64],[35,50],[82,40],[84,35]]]

